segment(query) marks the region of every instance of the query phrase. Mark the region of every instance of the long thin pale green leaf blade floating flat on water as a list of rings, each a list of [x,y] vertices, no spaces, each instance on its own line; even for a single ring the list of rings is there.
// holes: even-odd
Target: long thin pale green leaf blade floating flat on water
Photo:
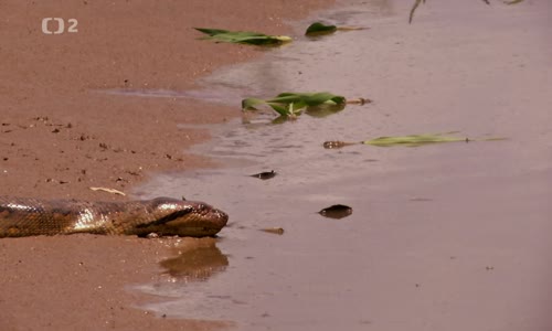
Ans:
[[[453,134],[453,132],[450,132]],[[506,138],[486,138],[480,139],[482,141],[491,141],[491,140],[505,140]],[[346,142],[346,141],[326,141],[323,143],[323,148],[332,149],[332,148],[341,148],[349,145],[372,145],[378,147],[392,147],[392,146],[406,146],[406,147],[417,147],[423,145],[431,143],[440,143],[440,142],[459,142],[459,141],[474,141],[469,138],[454,137],[454,136],[444,136],[443,134],[435,135],[411,135],[411,136],[397,136],[397,137],[379,137],[375,139],[364,140],[360,142]]]

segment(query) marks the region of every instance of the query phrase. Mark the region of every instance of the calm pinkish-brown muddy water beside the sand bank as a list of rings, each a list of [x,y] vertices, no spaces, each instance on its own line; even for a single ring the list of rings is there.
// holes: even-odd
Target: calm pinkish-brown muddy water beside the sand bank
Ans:
[[[209,77],[209,92],[188,92],[236,111],[244,96],[283,90],[374,103],[283,125],[212,127],[215,139],[195,152],[221,168],[139,188],[138,196],[184,195],[231,215],[212,247],[224,268],[139,287],[166,297],[147,309],[240,330],[552,328],[552,7],[428,1],[408,25],[406,2],[323,12],[371,29],[299,40]],[[322,148],[447,131],[509,139]],[[270,170],[269,180],[250,177]],[[338,203],[352,214],[317,213]],[[284,234],[259,231],[267,227]]]

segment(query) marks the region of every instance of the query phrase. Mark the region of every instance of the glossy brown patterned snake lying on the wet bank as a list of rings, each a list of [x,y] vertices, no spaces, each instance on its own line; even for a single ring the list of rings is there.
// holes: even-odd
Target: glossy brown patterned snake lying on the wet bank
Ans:
[[[204,202],[164,196],[110,202],[0,196],[0,237],[77,233],[203,237],[214,236],[227,221],[226,213]]]

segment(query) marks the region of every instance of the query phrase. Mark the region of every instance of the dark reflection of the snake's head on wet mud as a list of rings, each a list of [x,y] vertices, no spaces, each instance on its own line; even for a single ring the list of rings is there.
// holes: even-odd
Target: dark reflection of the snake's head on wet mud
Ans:
[[[222,273],[229,265],[227,257],[216,247],[215,238],[182,238],[172,248],[176,256],[164,259],[160,266],[176,280],[206,280]]]

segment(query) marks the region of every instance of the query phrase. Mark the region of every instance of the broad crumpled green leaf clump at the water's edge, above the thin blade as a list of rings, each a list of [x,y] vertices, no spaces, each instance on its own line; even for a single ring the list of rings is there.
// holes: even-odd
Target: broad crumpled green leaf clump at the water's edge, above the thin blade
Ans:
[[[304,110],[320,110],[320,116],[333,114],[344,108],[347,104],[360,104],[370,102],[364,98],[347,100],[346,97],[327,92],[318,93],[280,93],[270,99],[245,98],[242,100],[242,110],[258,110],[268,106],[276,111],[280,119],[296,118]],[[316,114],[311,114],[316,115]]]

